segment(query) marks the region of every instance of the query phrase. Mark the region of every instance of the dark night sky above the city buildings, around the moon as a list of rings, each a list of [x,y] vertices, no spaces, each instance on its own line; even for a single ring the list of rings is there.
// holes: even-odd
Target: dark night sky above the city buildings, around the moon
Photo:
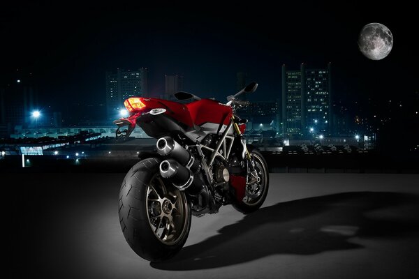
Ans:
[[[418,91],[418,23],[410,3],[33,2],[1,8],[1,76],[17,68],[33,73],[44,105],[63,98],[105,103],[105,71],[141,67],[156,95],[165,74],[179,74],[184,91],[224,100],[236,91],[236,73],[246,72],[259,84],[253,100],[272,100],[281,96],[281,65],[299,69],[302,62],[332,62],[335,101],[362,105]],[[381,61],[358,50],[358,34],[370,22],[394,36]]]

